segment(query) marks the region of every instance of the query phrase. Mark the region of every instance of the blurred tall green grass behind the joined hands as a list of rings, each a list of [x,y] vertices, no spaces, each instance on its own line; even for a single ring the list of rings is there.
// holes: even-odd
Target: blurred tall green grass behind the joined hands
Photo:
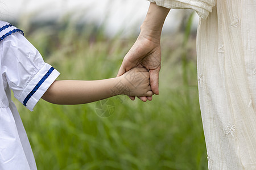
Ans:
[[[109,39],[101,29],[93,32],[88,26],[77,32],[71,24],[60,31],[31,30],[27,38],[60,71],[59,79],[114,77],[135,37]],[[195,39],[183,33],[163,35],[162,49],[160,95],[147,103],[112,97],[111,117],[97,116],[96,103],[40,100],[30,112],[15,101],[38,169],[207,169]]]

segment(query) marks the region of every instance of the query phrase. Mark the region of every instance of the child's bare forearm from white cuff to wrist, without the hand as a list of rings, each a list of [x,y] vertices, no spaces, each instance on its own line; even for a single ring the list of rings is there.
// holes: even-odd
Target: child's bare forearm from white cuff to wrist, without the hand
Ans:
[[[85,104],[118,95],[113,87],[118,78],[81,81],[59,80],[55,81],[42,99],[53,104]]]

